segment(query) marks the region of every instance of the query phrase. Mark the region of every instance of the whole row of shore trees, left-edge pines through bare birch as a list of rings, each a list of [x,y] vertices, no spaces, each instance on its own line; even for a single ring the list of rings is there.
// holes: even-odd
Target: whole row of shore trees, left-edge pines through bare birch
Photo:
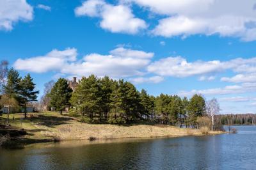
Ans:
[[[8,70],[8,63],[0,66],[1,100],[0,106],[8,105],[6,123],[9,120],[10,107],[23,109],[29,102],[35,102],[39,91],[31,76],[21,77],[17,70]],[[196,127],[198,118],[208,116],[214,127],[214,115],[220,111],[216,99],[205,101],[202,95],[193,95],[190,99],[177,95],[148,95],[145,89],[136,87],[123,79],[114,80],[90,75],[79,80],[73,91],[66,79],[50,81],[45,84],[40,104],[47,111],[69,111],[82,116],[88,123],[163,123],[165,125]],[[42,109],[41,107],[41,109]],[[42,109],[43,110],[43,109]]]

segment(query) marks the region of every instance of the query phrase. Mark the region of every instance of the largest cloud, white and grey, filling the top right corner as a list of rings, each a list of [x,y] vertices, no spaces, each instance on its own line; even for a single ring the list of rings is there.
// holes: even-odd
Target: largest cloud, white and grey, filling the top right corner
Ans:
[[[189,35],[232,36],[256,39],[255,1],[240,0],[123,0],[166,16],[152,33],[172,37]],[[200,6],[200,8],[198,8]]]

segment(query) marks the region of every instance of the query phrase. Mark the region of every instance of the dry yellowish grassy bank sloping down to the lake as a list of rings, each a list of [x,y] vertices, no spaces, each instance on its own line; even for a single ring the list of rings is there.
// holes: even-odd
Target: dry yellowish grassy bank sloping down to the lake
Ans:
[[[78,118],[60,115],[57,112],[31,113],[29,118],[20,121],[23,114],[10,116],[11,130],[23,128],[26,135],[14,137],[13,142],[22,144],[45,143],[50,141],[128,139],[152,137],[183,137],[188,135],[217,135],[225,132],[179,128],[170,125],[108,125],[88,124]],[[1,118],[1,117],[0,117]],[[14,118],[14,121],[12,120]],[[3,116],[1,123],[3,124]],[[2,129],[3,130],[3,129]]]

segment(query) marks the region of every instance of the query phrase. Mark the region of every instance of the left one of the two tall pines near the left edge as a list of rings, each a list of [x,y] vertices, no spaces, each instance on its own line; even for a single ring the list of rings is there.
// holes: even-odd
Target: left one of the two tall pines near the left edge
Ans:
[[[17,100],[18,92],[20,89],[20,74],[17,70],[11,68],[8,72],[7,83],[4,86],[4,93],[8,98],[8,112],[7,112],[7,120],[6,124],[9,123],[9,115],[10,115],[10,105],[12,100]]]

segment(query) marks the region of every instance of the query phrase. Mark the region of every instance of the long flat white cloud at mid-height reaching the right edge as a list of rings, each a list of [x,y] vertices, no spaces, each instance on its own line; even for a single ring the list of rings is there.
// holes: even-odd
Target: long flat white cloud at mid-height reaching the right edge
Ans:
[[[188,62],[185,58],[180,56],[162,58],[154,61],[148,65],[148,72],[156,73],[161,76],[172,77],[189,77],[194,75],[207,75],[209,73],[218,73],[225,70],[232,70],[233,72],[255,72],[256,58],[236,58],[230,61],[194,61]],[[208,79],[213,80],[214,77],[200,77],[199,80],[204,81]],[[223,78],[227,81],[227,78]]]

